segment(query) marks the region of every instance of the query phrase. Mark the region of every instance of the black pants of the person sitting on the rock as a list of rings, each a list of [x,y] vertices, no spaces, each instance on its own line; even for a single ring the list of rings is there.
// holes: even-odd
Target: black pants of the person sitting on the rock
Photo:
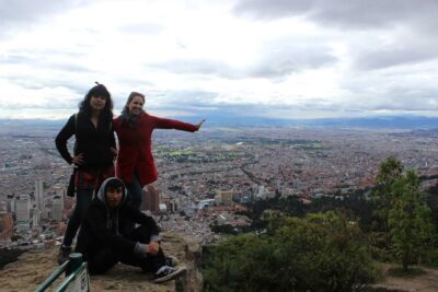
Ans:
[[[150,233],[143,226],[138,226],[126,237],[142,244],[149,244],[150,242]],[[88,261],[91,275],[104,273],[119,261],[139,267],[145,271],[155,272],[160,267],[165,265],[165,257],[161,247],[155,256],[149,254],[140,256],[134,253],[134,250],[117,250],[116,248],[105,246],[93,255],[90,255]]]

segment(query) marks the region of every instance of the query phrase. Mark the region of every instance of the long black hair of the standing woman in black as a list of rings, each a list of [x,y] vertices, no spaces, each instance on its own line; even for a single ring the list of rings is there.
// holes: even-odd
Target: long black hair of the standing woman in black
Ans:
[[[90,100],[91,96],[101,96],[105,97],[105,107],[102,109],[100,118],[102,120],[108,122],[113,119],[113,100],[111,98],[111,93],[105,87],[105,85],[96,82],[97,85],[93,86],[83,97],[83,100],[79,103],[79,114],[84,115],[87,117],[91,116],[91,105]]]

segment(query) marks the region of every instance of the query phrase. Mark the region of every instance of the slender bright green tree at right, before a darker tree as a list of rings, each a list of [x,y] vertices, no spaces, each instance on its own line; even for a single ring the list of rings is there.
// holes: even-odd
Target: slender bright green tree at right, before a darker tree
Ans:
[[[391,245],[404,270],[417,262],[425,247],[431,244],[431,213],[419,185],[418,175],[408,171],[391,187],[393,199],[388,220]]]

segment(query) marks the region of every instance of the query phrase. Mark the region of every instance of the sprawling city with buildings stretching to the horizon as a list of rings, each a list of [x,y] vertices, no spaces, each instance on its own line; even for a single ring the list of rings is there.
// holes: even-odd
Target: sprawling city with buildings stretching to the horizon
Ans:
[[[55,148],[55,127],[32,125],[0,131],[0,247],[47,248],[59,244],[74,199],[66,196],[72,171]],[[163,231],[219,237],[212,225],[251,224],[245,203],[275,196],[342,199],[373,186],[379,163],[400,159],[405,168],[434,178],[434,130],[323,127],[157,130],[159,179],[145,189],[141,209]],[[73,145],[71,139],[70,149]],[[436,180],[423,182],[423,187]]]

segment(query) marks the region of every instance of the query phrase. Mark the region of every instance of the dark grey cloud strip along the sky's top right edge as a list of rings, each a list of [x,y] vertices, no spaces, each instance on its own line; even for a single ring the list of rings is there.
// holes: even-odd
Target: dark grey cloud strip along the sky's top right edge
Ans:
[[[234,12],[268,20],[306,16],[324,25],[356,28],[411,21],[423,27],[436,27],[438,23],[438,2],[435,0],[241,0]]]

